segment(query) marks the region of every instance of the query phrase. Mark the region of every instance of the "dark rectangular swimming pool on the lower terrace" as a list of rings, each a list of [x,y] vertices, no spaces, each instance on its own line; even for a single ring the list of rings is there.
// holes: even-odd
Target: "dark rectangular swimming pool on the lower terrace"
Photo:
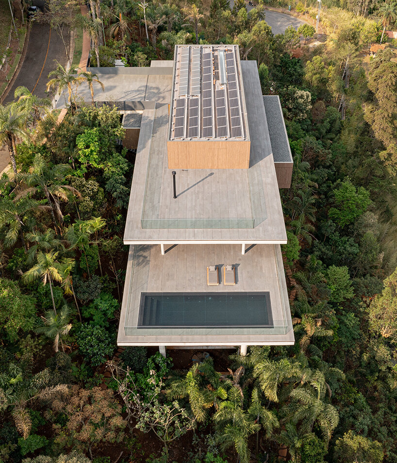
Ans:
[[[138,328],[273,326],[268,292],[142,293]]]

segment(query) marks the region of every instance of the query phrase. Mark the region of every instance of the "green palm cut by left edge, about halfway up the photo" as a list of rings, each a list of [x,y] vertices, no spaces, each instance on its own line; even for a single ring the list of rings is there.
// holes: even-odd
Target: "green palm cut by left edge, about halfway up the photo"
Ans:
[[[7,229],[4,239],[4,244],[7,248],[14,246],[19,237],[25,251],[28,251],[23,236],[23,219],[27,212],[43,208],[45,206],[31,198],[22,198],[19,200],[11,200],[4,196],[0,198],[0,226]]]

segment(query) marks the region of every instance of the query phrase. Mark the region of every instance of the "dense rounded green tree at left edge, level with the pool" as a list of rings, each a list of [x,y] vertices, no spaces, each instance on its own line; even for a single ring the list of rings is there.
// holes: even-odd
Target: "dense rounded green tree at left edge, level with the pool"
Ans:
[[[17,282],[0,278],[0,326],[10,341],[19,331],[32,330],[35,313],[35,299],[22,294]]]

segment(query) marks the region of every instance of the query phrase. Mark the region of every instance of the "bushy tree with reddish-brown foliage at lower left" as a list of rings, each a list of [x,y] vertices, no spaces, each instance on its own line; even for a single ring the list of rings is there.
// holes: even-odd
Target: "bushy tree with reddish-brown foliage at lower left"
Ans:
[[[99,387],[83,389],[77,385],[69,393],[51,402],[55,413],[66,415],[66,424],[54,425],[55,441],[61,446],[88,451],[103,444],[119,444],[125,437],[126,422],[121,415],[121,405],[111,390]]]

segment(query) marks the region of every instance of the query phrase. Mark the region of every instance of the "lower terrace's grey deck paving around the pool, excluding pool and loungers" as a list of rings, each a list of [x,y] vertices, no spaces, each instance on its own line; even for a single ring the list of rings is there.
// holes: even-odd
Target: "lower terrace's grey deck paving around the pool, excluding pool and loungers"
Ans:
[[[221,282],[207,285],[207,266],[221,266]],[[236,284],[223,284],[223,265],[235,265]],[[140,298],[149,293],[269,292],[274,328],[138,328]],[[118,345],[286,345],[294,344],[288,293],[279,245],[174,245],[130,247],[117,337]]]

